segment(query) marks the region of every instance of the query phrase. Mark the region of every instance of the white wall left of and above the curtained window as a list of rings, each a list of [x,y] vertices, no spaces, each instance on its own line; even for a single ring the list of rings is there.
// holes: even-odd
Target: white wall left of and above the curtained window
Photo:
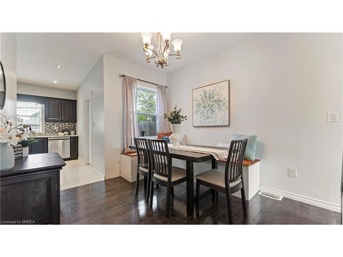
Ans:
[[[158,69],[154,71],[104,55],[106,178],[119,176],[119,156],[123,149],[123,92],[119,73],[163,85],[167,80]]]

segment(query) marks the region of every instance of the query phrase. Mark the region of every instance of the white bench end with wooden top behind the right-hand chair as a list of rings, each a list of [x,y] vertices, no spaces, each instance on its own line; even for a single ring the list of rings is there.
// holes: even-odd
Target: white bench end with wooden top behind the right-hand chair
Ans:
[[[224,164],[226,159],[220,159],[219,162]],[[246,199],[250,201],[250,199],[259,192],[259,163],[261,160],[244,160],[243,161],[243,183],[244,183],[244,191],[246,193]],[[241,193],[237,192],[233,195],[237,197],[241,197]]]

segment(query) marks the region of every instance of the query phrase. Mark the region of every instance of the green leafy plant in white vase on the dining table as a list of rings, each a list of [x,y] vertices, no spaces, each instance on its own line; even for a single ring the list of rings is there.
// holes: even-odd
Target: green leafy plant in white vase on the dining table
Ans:
[[[165,113],[165,119],[171,123],[173,127],[173,134],[170,136],[170,141],[174,147],[179,147],[184,134],[180,134],[180,125],[182,121],[187,121],[187,115],[181,114],[181,109],[175,105],[174,110],[172,110],[169,115]]]

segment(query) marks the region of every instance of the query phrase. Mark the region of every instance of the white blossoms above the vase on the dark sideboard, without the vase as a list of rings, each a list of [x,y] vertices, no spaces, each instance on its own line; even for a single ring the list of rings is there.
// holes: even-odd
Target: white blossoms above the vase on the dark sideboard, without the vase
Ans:
[[[0,143],[8,143],[8,145],[17,145],[21,140],[25,140],[31,135],[25,132],[25,129],[29,125],[17,125],[13,127],[13,122],[10,120],[10,117],[5,117],[3,114],[0,114]]]

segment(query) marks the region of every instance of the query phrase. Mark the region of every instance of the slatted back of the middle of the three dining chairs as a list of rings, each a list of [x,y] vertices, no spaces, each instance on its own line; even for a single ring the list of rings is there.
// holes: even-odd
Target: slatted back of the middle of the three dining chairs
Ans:
[[[162,175],[171,181],[171,157],[167,141],[163,139],[148,139],[152,173]]]

